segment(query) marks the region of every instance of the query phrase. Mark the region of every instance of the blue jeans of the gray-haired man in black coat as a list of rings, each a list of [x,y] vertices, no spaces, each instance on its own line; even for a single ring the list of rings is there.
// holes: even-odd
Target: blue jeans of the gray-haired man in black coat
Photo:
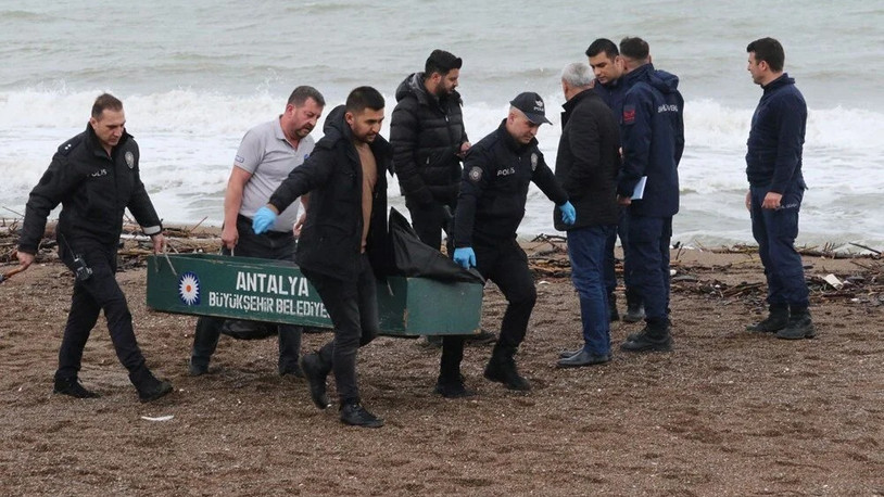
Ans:
[[[583,348],[610,354],[610,315],[605,285],[605,247],[616,226],[588,226],[568,230],[571,281],[580,296]]]

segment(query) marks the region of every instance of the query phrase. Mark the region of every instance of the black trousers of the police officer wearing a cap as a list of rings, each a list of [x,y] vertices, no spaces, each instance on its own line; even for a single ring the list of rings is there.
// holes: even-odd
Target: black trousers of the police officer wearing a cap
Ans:
[[[528,256],[516,240],[473,240],[476,269],[493,281],[506,297],[507,306],[501,321],[501,335],[495,348],[515,353],[525,340],[528,320],[538,301],[534,277],[528,268]],[[459,374],[464,358],[464,336],[445,336],[442,341],[440,375],[453,380]]]

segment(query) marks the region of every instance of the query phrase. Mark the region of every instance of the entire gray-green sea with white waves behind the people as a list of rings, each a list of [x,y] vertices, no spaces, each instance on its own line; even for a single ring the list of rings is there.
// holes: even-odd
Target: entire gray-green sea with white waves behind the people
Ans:
[[[809,107],[798,243],[884,248],[882,24],[884,3],[856,0],[0,0],[0,217],[24,213],[52,153],[110,91],[124,101],[161,217],[217,226],[242,135],[281,113],[292,88],[315,86],[330,110],[370,85],[389,116],[399,82],[435,48],[464,59],[458,90],[473,142],[496,128],[513,97],[539,92],[554,124],[538,139],[554,166],[561,67],[585,62],[597,37],[641,36],[655,66],[680,77],[685,99],[673,240],[752,243],[744,155],[761,90],[745,48],[772,36]],[[381,132],[389,136],[389,123]],[[389,196],[405,211],[395,180]],[[532,188],[520,235],[554,233],[553,208]]]

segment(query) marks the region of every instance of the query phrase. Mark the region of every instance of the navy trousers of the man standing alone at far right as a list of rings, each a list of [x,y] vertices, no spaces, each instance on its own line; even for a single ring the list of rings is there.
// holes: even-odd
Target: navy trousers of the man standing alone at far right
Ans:
[[[801,256],[795,251],[798,237],[798,211],[801,208],[804,189],[790,187],[780,201],[778,209],[761,208],[767,187],[752,187],[752,234],[758,242],[758,255],[765,265],[768,280],[768,304],[788,305],[793,309],[806,309],[808,290],[805,282]]]

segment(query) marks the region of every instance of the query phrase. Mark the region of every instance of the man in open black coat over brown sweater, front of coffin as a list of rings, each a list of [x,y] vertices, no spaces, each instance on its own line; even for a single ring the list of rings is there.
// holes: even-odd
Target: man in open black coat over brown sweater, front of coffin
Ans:
[[[374,88],[350,92],[326,118],[325,136],[313,154],[270,195],[254,216],[263,233],[279,213],[310,193],[295,262],[319,293],[334,339],[301,359],[311,396],[328,407],[326,377],[333,370],[341,422],[379,428],[383,420],[362,406],[356,354],[378,334],[376,277],[389,272],[387,250],[387,171],[390,144],[380,135],[383,97]]]

